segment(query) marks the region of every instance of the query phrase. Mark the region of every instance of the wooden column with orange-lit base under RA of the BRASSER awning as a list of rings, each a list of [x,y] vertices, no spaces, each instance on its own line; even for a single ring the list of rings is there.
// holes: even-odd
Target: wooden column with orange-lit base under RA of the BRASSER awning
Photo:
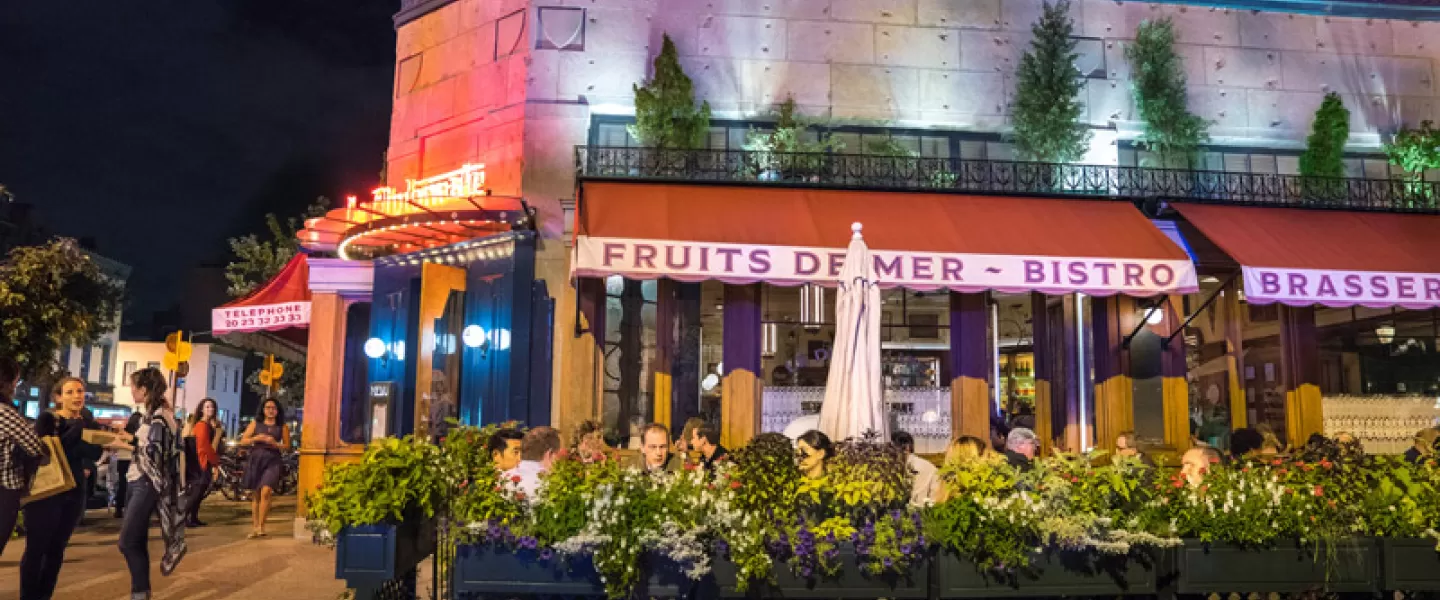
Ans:
[[[1322,433],[1320,350],[1315,308],[1280,306],[1280,381],[1284,384],[1284,429],[1299,447]]]

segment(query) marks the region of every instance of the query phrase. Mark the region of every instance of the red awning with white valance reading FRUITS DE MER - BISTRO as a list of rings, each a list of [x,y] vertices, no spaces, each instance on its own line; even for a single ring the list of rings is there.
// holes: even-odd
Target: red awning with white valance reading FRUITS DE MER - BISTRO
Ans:
[[[881,285],[1188,294],[1195,268],[1129,203],[586,181],[579,276],[834,283],[851,223]]]

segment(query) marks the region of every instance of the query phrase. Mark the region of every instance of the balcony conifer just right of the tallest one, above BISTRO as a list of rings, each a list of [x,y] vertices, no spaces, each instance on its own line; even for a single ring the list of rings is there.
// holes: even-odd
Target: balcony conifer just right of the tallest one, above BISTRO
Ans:
[[[1175,52],[1169,17],[1142,22],[1125,58],[1130,62],[1135,108],[1145,121],[1139,144],[1156,153],[1164,167],[1189,168],[1210,134],[1205,119],[1189,112],[1185,65]]]

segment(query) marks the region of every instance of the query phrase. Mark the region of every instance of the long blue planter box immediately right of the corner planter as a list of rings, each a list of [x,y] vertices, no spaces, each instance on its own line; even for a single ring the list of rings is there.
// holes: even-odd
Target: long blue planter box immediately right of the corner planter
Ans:
[[[462,594],[605,596],[590,557],[540,560],[533,550],[467,544],[455,548],[451,590]]]

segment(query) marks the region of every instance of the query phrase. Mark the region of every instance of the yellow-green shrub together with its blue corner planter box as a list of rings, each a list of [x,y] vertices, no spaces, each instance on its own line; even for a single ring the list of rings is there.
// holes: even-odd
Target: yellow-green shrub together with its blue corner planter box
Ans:
[[[331,465],[307,498],[317,540],[336,544],[336,578],[367,597],[413,577],[435,551],[441,452],[406,436],[372,443],[359,462]]]

